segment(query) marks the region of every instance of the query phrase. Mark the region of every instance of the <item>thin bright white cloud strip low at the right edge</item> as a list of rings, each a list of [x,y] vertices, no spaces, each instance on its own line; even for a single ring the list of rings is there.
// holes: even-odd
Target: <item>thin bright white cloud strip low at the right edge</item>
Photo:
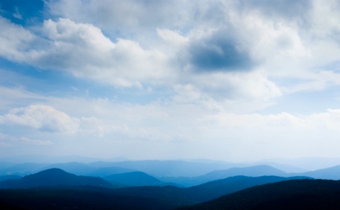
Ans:
[[[292,115],[286,112],[278,115],[237,115],[220,112],[214,115],[207,115],[207,120],[216,122],[218,127],[229,129],[249,129],[259,132],[312,132],[322,134],[325,132],[337,132],[340,126],[340,110],[327,110],[312,115]],[[283,134],[284,136],[284,134]],[[305,141],[308,141],[305,139]]]

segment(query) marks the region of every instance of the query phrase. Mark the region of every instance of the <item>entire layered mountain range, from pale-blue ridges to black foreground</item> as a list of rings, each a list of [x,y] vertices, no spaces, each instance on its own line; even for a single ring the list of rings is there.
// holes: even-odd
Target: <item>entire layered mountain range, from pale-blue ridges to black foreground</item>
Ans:
[[[289,205],[293,202],[302,205],[311,198],[312,203],[321,197],[334,205],[337,205],[334,199],[340,199],[336,189],[327,188],[329,183],[337,186],[340,181],[313,180],[339,179],[340,166],[285,173],[270,165],[254,165],[211,170],[192,177],[158,177],[143,171],[159,175],[186,174],[190,167],[200,165],[185,161],[165,162],[171,170],[182,170],[176,173],[168,173],[170,169],[166,167],[159,171],[152,168],[161,163],[163,161],[5,164],[8,168],[1,171],[13,175],[0,176],[0,209],[237,209],[237,205],[244,202],[249,206],[241,205],[241,209],[280,209],[277,204],[292,209]],[[184,170],[184,166],[188,169]],[[31,170],[39,171],[23,177],[15,175]],[[192,174],[198,171],[200,174],[203,170]],[[251,194],[257,197],[251,197]]]

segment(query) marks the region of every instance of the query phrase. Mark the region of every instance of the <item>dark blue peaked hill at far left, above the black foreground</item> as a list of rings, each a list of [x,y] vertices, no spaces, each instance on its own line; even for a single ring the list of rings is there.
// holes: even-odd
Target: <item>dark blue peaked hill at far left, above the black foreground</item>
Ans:
[[[99,177],[77,176],[67,173],[59,168],[43,170],[39,173],[27,175],[20,180],[6,180],[0,182],[0,188],[29,188],[45,186],[78,186],[89,185],[97,187],[113,187]]]

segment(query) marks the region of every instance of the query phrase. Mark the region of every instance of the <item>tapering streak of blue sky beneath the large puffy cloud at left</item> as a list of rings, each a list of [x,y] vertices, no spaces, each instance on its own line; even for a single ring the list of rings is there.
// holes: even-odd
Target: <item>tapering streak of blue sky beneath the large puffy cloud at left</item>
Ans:
[[[3,74],[1,86],[21,87],[45,96],[108,98],[123,103],[145,104],[171,95],[169,88],[115,88],[88,78],[77,78],[64,71],[37,69],[3,58],[0,58],[0,66]]]

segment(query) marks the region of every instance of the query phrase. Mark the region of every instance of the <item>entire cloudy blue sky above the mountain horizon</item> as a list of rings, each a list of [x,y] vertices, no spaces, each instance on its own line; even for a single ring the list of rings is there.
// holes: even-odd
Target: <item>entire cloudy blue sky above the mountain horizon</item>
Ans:
[[[0,0],[0,156],[339,157],[339,0]]]

